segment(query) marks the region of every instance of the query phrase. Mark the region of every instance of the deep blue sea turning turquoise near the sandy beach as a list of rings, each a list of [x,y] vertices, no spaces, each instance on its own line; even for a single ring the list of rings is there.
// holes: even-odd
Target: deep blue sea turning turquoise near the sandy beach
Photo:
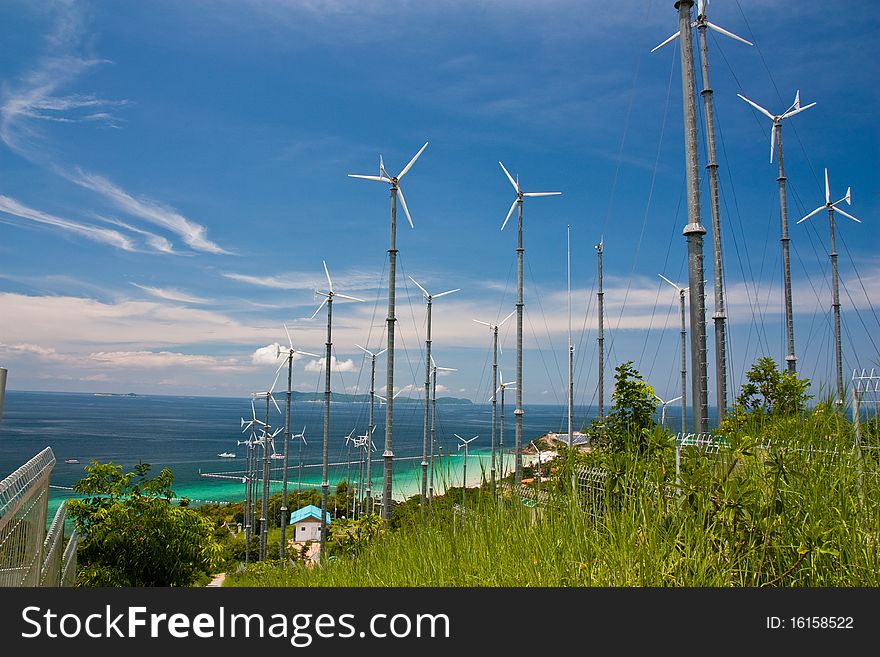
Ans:
[[[285,395],[279,406],[285,410]],[[335,486],[341,480],[358,482],[365,462],[346,438],[362,435],[369,422],[368,402],[333,402],[330,407],[328,480]],[[257,417],[265,420],[265,402],[258,401]],[[514,446],[514,405],[504,409],[505,468],[512,467]],[[567,432],[567,407],[524,405],[523,443],[548,431]],[[595,408],[576,408],[575,427],[589,422]],[[499,416],[500,404],[498,405]],[[183,397],[164,395],[124,395],[102,393],[29,392],[9,390],[0,419],[0,480],[8,477],[46,447],[52,449],[56,463],[50,478],[49,517],[64,499],[74,497],[73,484],[85,475],[84,468],[94,459],[113,462],[128,472],[138,463],[148,463],[156,474],[168,466],[174,474],[173,489],[179,498],[194,505],[240,501],[245,489],[249,430],[242,432],[242,418],[253,417],[251,398]],[[469,485],[488,473],[491,460],[491,404],[440,403],[437,405],[435,436],[436,491],[445,486],[461,486],[463,450],[456,437],[478,436],[468,447],[466,464]],[[674,421],[672,413],[667,422]],[[500,422],[500,419],[499,419]],[[269,424],[284,426],[284,416],[270,408]],[[374,495],[382,491],[385,406],[374,406],[373,440],[376,451],[371,458]],[[291,438],[288,447],[288,493],[297,487],[317,488],[321,484],[324,435],[323,401],[296,400],[291,404],[291,434],[303,432],[305,442]],[[353,432],[353,433],[352,433]],[[275,439],[283,453],[284,432]],[[497,436],[496,436],[497,438]],[[424,439],[424,403],[394,404],[394,470],[392,494],[405,499],[419,492]],[[222,458],[221,453],[235,454]],[[262,455],[261,448],[255,453]],[[500,457],[499,457],[500,458]],[[272,459],[270,492],[281,491],[283,460]],[[261,466],[262,467],[262,466]],[[499,461],[498,469],[501,464]],[[262,469],[260,470],[260,473]],[[487,474],[488,476],[488,474]]]

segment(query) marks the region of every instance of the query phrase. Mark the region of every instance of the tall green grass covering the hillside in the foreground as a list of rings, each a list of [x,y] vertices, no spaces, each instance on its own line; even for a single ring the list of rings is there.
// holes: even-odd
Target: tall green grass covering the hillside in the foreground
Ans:
[[[769,449],[755,447],[768,437]],[[880,586],[880,475],[874,451],[855,458],[848,423],[822,411],[729,438],[716,456],[685,449],[678,493],[667,437],[601,463],[615,485],[598,508],[562,492],[499,511],[474,489],[454,518],[459,489],[435,500],[429,523],[410,509],[356,556],[251,564],[224,585]]]

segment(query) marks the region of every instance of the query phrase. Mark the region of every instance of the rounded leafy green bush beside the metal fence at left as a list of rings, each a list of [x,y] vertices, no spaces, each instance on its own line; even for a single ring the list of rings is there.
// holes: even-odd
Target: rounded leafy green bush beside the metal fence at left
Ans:
[[[92,460],[85,470],[73,487],[85,497],[68,502],[82,534],[77,586],[190,586],[218,565],[213,524],[174,504],[169,468],[149,477],[147,463],[123,473]]]

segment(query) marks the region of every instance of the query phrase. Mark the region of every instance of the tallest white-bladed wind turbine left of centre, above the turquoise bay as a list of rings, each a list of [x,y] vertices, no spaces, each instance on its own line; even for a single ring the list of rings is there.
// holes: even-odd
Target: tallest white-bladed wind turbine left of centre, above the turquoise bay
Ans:
[[[403,169],[400,170],[400,173],[398,173],[396,176],[389,175],[388,172],[385,170],[385,163],[382,161],[381,155],[379,156],[378,176],[364,176],[353,173],[348,174],[351,178],[363,178],[364,180],[373,180],[376,182],[383,182],[391,185],[391,236],[388,246],[388,318],[386,320],[388,335],[388,366],[386,370],[385,390],[394,390],[394,324],[396,322],[396,318],[394,315],[394,297],[397,276],[398,199],[400,199],[400,205],[403,208],[404,213],[406,214],[406,219],[409,222],[410,228],[413,227],[412,217],[409,214],[409,209],[406,207],[406,201],[403,198],[403,191],[401,191],[400,189],[400,181],[412,168],[412,165],[415,164],[416,160],[419,159],[419,156],[422,154],[422,152],[424,152],[425,148],[427,147],[428,142],[425,142],[425,145],[419,149],[419,152],[413,156],[409,163],[405,167],[403,167]],[[394,466],[393,433],[394,400],[392,398],[389,401],[388,408],[385,411],[385,451],[382,453],[382,458],[385,461],[385,472],[383,477],[382,517],[386,520],[391,519],[391,481]]]

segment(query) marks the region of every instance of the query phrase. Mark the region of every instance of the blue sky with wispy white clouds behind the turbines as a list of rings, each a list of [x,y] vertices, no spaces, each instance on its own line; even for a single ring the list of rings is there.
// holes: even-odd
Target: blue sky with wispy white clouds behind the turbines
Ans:
[[[880,12],[717,0],[707,14],[755,44],[710,32],[731,387],[757,357],[784,355],[770,121],[736,94],[776,113],[799,89],[817,105],[783,123],[795,340],[819,392],[833,376],[827,218],[795,222],[824,202],[825,167],[833,200],[851,186],[846,209],[863,222],[838,230],[845,367],[880,360]],[[326,260],[336,290],[365,300],[334,304],[333,388],[366,391],[355,345],[385,342],[388,189],[347,174],[378,173],[380,154],[396,173],[427,141],[402,184],[415,227],[398,215],[402,394],[424,380],[412,276],[432,293],[461,288],[434,303],[433,353],[458,370],[440,394],[491,395],[491,335],[472,320],[503,318],[516,295],[499,161],[526,190],[562,192],[525,204],[524,401],[565,402],[569,225],[576,402],[596,401],[602,238],[606,379],[634,360],[658,394],[679,394],[677,295],[657,274],[686,281],[681,78],[677,44],[650,52],[677,30],[673,2],[10,0],[0,25],[10,388],[265,389],[283,323],[296,347],[323,352],[325,315],[309,318]],[[705,254],[711,365],[709,235]],[[501,336],[512,380],[514,320]],[[294,387],[323,390],[320,372],[298,359]],[[713,379],[710,366],[710,401]]]

